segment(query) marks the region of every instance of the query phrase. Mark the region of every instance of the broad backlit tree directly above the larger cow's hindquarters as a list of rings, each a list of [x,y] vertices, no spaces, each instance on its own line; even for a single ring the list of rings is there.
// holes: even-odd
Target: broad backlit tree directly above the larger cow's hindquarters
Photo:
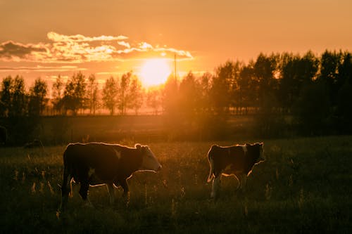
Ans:
[[[63,103],[65,110],[72,110],[73,115],[77,115],[77,111],[84,107],[86,83],[82,72],[73,74],[68,79],[63,92]]]

